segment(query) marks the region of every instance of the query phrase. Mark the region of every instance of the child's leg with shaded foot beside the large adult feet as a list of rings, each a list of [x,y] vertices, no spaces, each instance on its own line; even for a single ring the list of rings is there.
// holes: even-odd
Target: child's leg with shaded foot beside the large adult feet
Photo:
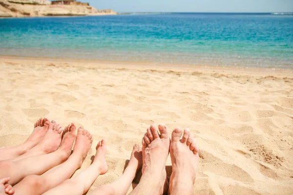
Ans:
[[[97,187],[90,195],[126,195],[137,171],[143,165],[142,157],[142,148],[138,144],[135,144],[123,175],[113,183]]]

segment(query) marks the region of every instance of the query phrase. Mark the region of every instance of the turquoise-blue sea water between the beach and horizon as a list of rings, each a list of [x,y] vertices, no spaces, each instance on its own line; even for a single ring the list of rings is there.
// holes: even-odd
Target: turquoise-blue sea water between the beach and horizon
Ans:
[[[293,16],[0,19],[0,55],[293,69]]]

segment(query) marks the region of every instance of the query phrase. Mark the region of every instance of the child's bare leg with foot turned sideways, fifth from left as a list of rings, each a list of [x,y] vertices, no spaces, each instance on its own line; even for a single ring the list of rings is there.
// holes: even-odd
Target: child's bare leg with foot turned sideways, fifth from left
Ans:
[[[61,185],[46,192],[44,195],[83,195],[99,175],[107,172],[105,160],[106,143],[103,139],[96,147],[97,153],[93,163],[78,176],[67,179]],[[105,193],[103,193],[105,194]]]

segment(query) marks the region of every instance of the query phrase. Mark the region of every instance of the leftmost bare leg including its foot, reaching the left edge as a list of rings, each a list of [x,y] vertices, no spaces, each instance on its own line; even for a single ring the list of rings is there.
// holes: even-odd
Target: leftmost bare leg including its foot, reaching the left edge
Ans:
[[[28,150],[37,145],[46,134],[50,122],[47,118],[40,118],[34,126],[34,131],[28,139],[18,146],[0,149],[0,160],[12,159],[25,154]]]

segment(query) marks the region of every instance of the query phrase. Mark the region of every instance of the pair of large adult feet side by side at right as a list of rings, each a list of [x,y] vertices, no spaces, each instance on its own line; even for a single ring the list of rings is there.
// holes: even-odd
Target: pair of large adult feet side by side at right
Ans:
[[[156,186],[159,189],[158,194],[181,194],[182,190],[185,194],[193,194],[199,149],[189,129],[174,129],[170,139],[166,125],[161,124],[158,129],[151,125],[146,130],[142,145],[143,176],[146,175],[146,180],[160,178]],[[168,185],[165,166],[169,153],[172,174]]]

